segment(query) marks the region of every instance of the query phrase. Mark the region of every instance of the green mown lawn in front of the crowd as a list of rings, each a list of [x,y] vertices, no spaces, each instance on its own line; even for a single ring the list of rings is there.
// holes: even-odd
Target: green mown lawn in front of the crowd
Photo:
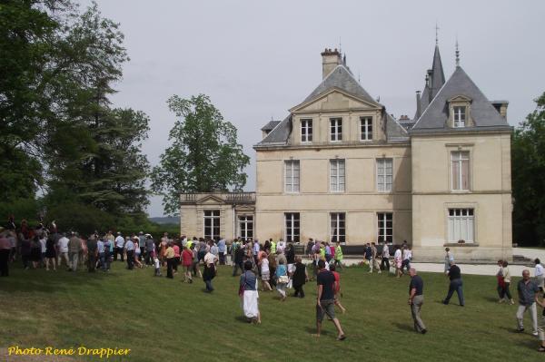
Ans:
[[[463,266],[461,266],[463,273]],[[339,314],[347,339],[335,340],[324,321],[314,333],[315,285],[307,297],[278,300],[260,293],[263,324],[244,321],[238,278],[221,267],[212,294],[196,279],[183,284],[154,278],[153,269],[124,269],[109,274],[86,271],[12,269],[0,279],[0,347],[124,347],[129,357],[111,361],[268,360],[268,361],[538,361],[538,340],[514,332],[516,306],[499,305],[493,277],[464,276],[466,307],[453,298],[442,305],[447,280],[421,274],[425,282],[422,318],[429,333],[412,330],[407,305],[409,277],[368,274],[362,267],[342,270]],[[514,289],[518,279],[513,280]],[[513,290],[511,290],[513,291]],[[8,359],[8,360],[31,360]],[[53,360],[53,359],[40,359]],[[74,360],[85,360],[76,357]]]

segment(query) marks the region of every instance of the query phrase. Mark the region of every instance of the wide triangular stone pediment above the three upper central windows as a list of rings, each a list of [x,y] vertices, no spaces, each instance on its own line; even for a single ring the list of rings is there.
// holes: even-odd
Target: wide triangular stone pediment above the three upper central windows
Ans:
[[[323,111],[380,109],[376,104],[369,103],[351,93],[346,93],[339,88],[332,88],[311,101],[301,103],[293,107],[292,113],[310,113]]]

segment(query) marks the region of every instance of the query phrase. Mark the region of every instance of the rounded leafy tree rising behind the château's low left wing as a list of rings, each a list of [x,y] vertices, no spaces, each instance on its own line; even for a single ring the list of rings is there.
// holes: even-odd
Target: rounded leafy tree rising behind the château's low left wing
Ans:
[[[178,119],[169,133],[172,145],[152,172],[152,189],[163,196],[165,212],[178,214],[183,192],[242,190],[250,158],[233,123],[204,94],[173,95],[167,103]]]

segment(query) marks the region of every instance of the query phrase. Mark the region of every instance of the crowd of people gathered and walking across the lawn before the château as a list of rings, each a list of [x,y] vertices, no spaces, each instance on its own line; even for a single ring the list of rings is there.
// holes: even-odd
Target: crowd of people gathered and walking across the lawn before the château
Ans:
[[[411,267],[412,252],[404,241],[401,246],[393,247],[391,263],[390,246],[382,242],[381,250],[374,242],[364,245],[362,264],[368,266],[369,272],[377,270],[391,272],[397,278],[409,274],[409,305],[415,331],[425,334],[428,329],[421,318],[424,302],[424,280],[416,269]],[[66,270],[76,272],[84,267],[89,272],[102,270],[108,272],[114,261],[126,261],[126,269],[154,269],[154,276],[173,279],[178,269],[183,269],[183,282],[193,283],[194,278],[202,279],[205,289],[213,291],[213,279],[218,265],[232,265],[233,277],[237,277],[239,269],[239,296],[243,314],[249,322],[262,322],[259,311],[259,291],[276,290],[280,301],[288,298],[288,290],[293,289],[292,297],[305,298],[304,285],[316,280],[316,336],[322,331],[322,320],[325,316],[332,320],[337,329],[337,338],[346,338],[339,319],[335,317],[335,308],[342,313],[345,308],[341,303],[341,275],[337,269],[343,269],[343,250],[339,242],[330,243],[310,239],[306,244],[307,259],[305,264],[302,255],[296,255],[292,242],[282,239],[265,240],[205,240],[182,236],[170,238],[168,233],[158,240],[151,234],[140,231],[138,234],[123,235],[121,232],[108,231],[102,234],[94,232],[88,237],[77,232],[59,232],[52,223],[45,228],[39,223],[30,228],[25,220],[19,228],[10,218],[5,228],[0,228],[0,275],[9,276],[9,265],[20,260],[24,269]],[[380,261],[379,261],[380,260]],[[524,331],[523,317],[526,312],[532,321],[532,334],[540,338],[541,352],[545,352],[545,309],[543,318],[538,321],[537,306],[545,308],[545,269],[540,259],[535,259],[535,278],[530,278],[530,270],[525,269],[522,279],[517,284],[519,308],[516,312],[517,331]],[[455,263],[454,255],[449,248],[445,249],[444,272],[450,279],[445,305],[450,304],[454,292],[457,293],[459,305],[465,306],[461,269]],[[307,266],[310,269],[307,269]],[[510,293],[511,274],[509,262],[498,260],[496,278],[499,303],[515,304]]]

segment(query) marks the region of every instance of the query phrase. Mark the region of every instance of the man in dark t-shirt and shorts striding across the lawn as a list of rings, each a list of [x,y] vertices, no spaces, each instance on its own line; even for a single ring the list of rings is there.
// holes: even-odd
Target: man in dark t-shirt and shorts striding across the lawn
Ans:
[[[318,285],[318,299],[316,301],[316,337],[320,337],[322,332],[322,320],[327,314],[332,319],[335,328],[337,328],[337,340],[346,338],[341,328],[339,319],[335,318],[335,276],[331,271],[325,269],[325,260],[318,260],[318,276],[316,283]]]

